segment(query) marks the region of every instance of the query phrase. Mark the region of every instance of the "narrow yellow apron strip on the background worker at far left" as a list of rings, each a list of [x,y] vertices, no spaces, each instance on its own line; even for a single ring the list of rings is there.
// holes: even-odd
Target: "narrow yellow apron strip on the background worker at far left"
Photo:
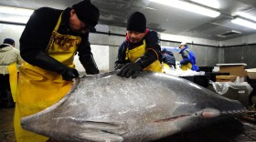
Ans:
[[[17,70],[16,70],[16,63],[7,66],[9,71],[9,81],[10,81],[10,87],[11,87],[11,93],[14,99],[14,102],[16,102],[16,89],[17,89]]]

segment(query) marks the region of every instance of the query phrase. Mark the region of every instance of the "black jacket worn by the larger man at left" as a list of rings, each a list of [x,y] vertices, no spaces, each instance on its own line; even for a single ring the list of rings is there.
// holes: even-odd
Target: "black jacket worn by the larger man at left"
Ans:
[[[52,31],[61,16],[58,32],[63,35],[79,35],[73,33],[69,28],[69,12],[71,8],[64,11],[49,7],[41,7],[30,16],[26,28],[20,38],[20,54],[27,63],[50,71],[60,73],[59,68],[64,67],[58,60],[48,56],[46,49]],[[91,54],[91,44],[88,41],[89,33],[79,35],[81,43],[78,48],[80,62],[85,67],[87,74],[98,74],[99,69]],[[61,67],[59,67],[61,66]],[[64,67],[65,68],[65,67]]]

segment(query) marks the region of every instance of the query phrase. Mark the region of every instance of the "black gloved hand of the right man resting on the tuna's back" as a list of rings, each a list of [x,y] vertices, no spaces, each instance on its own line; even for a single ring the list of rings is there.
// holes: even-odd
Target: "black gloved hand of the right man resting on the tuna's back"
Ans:
[[[128,63],[122,67],[122,69],[117,73],[117,76],[125,76],[136,78],[139,76],[142,67],[139,66],[137,63]]]

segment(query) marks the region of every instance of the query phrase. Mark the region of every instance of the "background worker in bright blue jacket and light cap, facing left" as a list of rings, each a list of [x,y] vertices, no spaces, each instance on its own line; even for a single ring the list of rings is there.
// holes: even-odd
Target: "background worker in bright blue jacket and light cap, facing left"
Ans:
[[[196,56],[192,51],[188,49],[187,43],[182,42],[179,46],[180,52],[183,60],[180,61],[180,68],[182,70],[191,69],[193,71],[198,71],[199,67],[196,66]]]

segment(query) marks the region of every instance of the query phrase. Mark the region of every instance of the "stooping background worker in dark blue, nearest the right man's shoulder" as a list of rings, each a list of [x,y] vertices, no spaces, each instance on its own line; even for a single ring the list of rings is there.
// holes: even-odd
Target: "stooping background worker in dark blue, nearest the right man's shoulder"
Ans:
[[[163,63],[171,68],[176,68],[176,57],[174,54],[171,51],[167,51],[165,48],[161,51],[161,53]]]

